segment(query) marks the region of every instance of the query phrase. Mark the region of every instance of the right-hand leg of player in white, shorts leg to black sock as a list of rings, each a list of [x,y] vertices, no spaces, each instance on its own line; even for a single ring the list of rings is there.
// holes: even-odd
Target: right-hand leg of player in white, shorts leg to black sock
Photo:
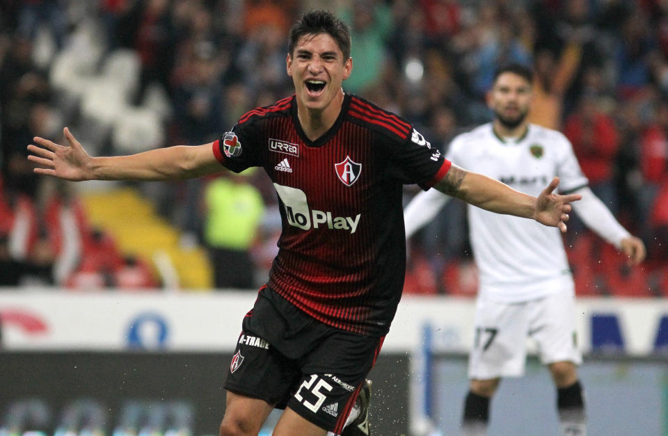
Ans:
[[[536,302],[532,308],[532,336],[541,361],[548,366],[557,388],[557,411],[562,435],[585,435],[587,414],[578,380],[582,355],[575,338],[575,298],[565,291]]]

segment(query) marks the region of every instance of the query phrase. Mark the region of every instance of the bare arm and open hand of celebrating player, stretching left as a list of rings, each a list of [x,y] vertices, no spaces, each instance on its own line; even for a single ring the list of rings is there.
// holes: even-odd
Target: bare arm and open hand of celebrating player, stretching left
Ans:
[[[28,146],[28,159],[40,165],[35,173],[67,180],[170,180],[215,174],[225,168],[214,156],[212,143],[177,145],[128,156],[91,157],[63,129],[67,145],[35,137]]]

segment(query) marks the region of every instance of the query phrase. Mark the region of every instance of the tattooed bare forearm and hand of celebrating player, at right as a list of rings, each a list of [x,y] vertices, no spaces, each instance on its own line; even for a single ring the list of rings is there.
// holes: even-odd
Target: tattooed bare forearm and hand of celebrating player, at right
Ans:
[[[541,195],[533,197],[515,191],[498,180],[452,165],[434,188],[473,206],[495,213],[532,218],[543,225],[558,227],[566,232],[566,221],[571,212],[569,203],[580,200],[582,195],[555,194],[553,191],[558,185],[559,178],[555,177]]]

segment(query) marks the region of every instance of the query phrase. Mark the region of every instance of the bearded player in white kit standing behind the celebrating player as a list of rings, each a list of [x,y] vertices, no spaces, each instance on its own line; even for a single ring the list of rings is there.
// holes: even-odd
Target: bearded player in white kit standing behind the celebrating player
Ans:
[[[582,195],[573,210],[585,225],[624,252],[630,264],[638,264],[645,257],[644,244],[587,187],[571,143],[558,131],[527,122],[531,83],[527,67],[508,65],[498,70],[487,96],[493,122],[454,138],[446,158],[531,195],[558,176],[561,193]],[[406,237],[434,218],[448,199],[434,189],[417,195],[404,213]],[[476,207],[468,207],[468,220],[479,291],[463,432],[484,435],[489,403],[500,379],[524,373],[526,337],[530,336],[557,387],[562,434],[584,435],[575,290],[559,231]]]

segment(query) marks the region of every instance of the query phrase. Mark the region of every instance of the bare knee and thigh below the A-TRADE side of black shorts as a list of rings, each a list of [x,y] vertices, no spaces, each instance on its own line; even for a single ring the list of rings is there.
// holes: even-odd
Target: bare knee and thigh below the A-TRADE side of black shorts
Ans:
[[[264,400],[228,391],[220,435],[257,435],[272,410],[273,405]]]

